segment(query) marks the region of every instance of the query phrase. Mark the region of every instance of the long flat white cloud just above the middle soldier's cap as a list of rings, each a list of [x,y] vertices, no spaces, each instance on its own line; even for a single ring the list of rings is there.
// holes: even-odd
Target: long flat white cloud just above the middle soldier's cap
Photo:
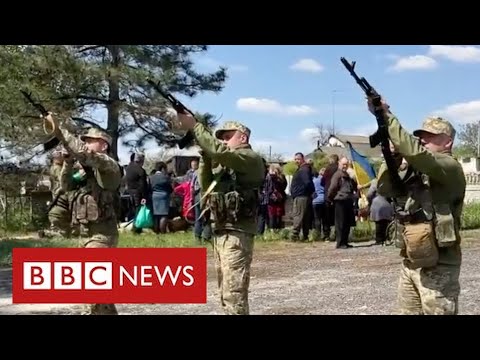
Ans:
[[[316,113],[316,110],[308,105],[283,105],[273,99],[258,99],[254,97],[238,99],[237,109],[248,112],[288,116],[306,116]]]

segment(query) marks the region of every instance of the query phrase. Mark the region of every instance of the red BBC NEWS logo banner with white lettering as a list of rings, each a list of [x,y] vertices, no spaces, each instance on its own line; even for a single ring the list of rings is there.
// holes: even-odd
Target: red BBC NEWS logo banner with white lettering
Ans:
[[[13,249],[13,303],[207,301],[205,248]]]

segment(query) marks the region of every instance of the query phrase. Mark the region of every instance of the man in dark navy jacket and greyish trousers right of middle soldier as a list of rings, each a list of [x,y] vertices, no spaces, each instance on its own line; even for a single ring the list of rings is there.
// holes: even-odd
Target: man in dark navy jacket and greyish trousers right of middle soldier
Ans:
[[[295,154],[295,162],[298,169],[293,174],[290,194],[293,199],[293,230],[292,241],[299,240],[302,229],[303,240],[308,240],[308,234],[312,227],[312,195],[315,194],[313,185],[312,167],[305,162],[302,153]]]

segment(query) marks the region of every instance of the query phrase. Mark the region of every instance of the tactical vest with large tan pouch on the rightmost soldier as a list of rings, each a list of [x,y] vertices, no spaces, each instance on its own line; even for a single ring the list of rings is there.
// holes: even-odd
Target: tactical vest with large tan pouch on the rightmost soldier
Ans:
[[[439,248],[452,246],[457,241],[451,199],[434,201],[430,179],[417,173],[409,179],[408,194],[403,211],[397,213],[401,231],[397,241],[401,254],[411,268],[437,265]],[[397,239],[398,240],[398,239]]]

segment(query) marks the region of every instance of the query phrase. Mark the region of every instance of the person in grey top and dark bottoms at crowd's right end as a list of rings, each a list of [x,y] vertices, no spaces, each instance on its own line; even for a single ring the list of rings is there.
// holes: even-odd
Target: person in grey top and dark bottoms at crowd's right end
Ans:
[[[370,220],[375,221],[375,245],[383,245],[387,240],[388,224],[393,220],[393,205],[389,199],[377,193],[376,180],[371,182],[367,200],[370,204]]]

